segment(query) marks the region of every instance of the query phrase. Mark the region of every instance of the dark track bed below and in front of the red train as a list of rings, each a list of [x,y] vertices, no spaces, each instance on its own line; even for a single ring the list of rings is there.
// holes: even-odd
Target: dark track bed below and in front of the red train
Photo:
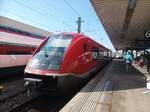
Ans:
[[[0,112],[57,112],[88,81],[81,84],[82,86],[78,90],[76,89],[77,91],[64,96],[57,96],[56,94],[45,96],[35,92],[33,88],[29,92],[27,88],[24,88],[23,79],[5,83],[8,88],[6,87],[7,92],[0,95]]]

